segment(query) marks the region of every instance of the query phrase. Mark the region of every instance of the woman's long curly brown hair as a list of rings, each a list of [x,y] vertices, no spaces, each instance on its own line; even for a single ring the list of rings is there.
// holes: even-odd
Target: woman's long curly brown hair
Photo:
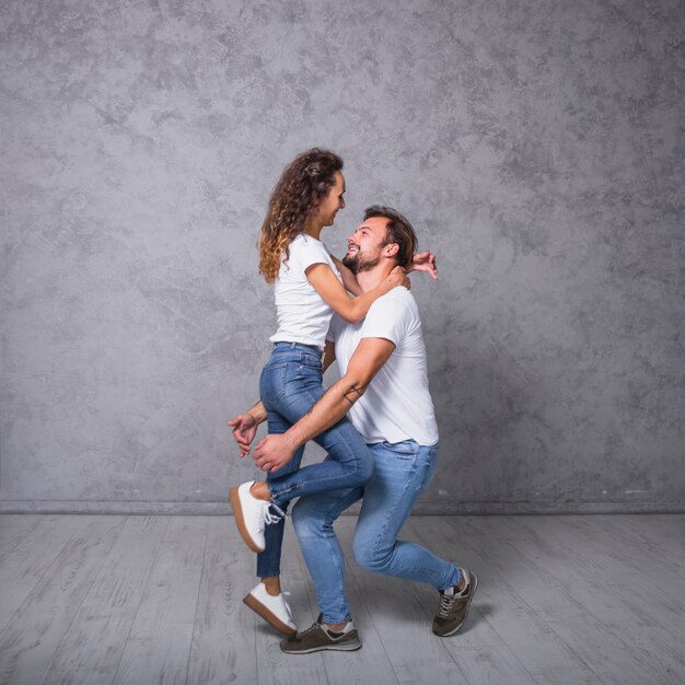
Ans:
[[[342,160],[329,150],[313,148],[283,171],[269,199],[259,237],[259,274],[267,283],[278,278],[281,255],[290,257],[290,243],[301,233],[335,184]]]

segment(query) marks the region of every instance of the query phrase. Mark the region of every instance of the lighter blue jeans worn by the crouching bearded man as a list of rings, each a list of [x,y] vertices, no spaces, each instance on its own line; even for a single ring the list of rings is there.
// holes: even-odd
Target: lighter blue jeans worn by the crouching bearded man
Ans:
[[[414,440],[369,445],[375,469],[365,488],[321,492],[301,498],[292,522],[316,588],[325,623],[349,620],[345,594],[345,561],[333,522],[363,496],[352,549],[357,562],[369,571],[430,583],[445,590],[460,582],[461,571],[428,549],[398,541],[397,535],[437,467],[438,445]]]

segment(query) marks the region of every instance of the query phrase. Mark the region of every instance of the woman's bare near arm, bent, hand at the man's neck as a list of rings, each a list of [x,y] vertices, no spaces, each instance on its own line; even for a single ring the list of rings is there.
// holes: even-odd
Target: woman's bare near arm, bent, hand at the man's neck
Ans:
[[[361,321],[367,315],[369,307],[381,295],[390,292],[393,288],[397,288],[397,286],[405,286],[405,288],[411,287],[411,282],[407,278],[405,270],[398,266],[391,271],[390,276],[383,280],[380,286],[356,298],[350,298],[342,283],[327,264],[321,262],[312,264],[305,269],[304,274],[321,299],[336,314],[339,314],[345,321],[351,324]]]

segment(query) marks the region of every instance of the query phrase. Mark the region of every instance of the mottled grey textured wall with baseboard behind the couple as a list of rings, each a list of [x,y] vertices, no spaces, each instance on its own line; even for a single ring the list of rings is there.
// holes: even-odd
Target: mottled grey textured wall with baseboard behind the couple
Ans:
[[[414,221],[422,511],[683,510],[681,0],[4,0],[0,501],[228,511],[298,152]],[[315,454],[316,456],[316,454]]]

